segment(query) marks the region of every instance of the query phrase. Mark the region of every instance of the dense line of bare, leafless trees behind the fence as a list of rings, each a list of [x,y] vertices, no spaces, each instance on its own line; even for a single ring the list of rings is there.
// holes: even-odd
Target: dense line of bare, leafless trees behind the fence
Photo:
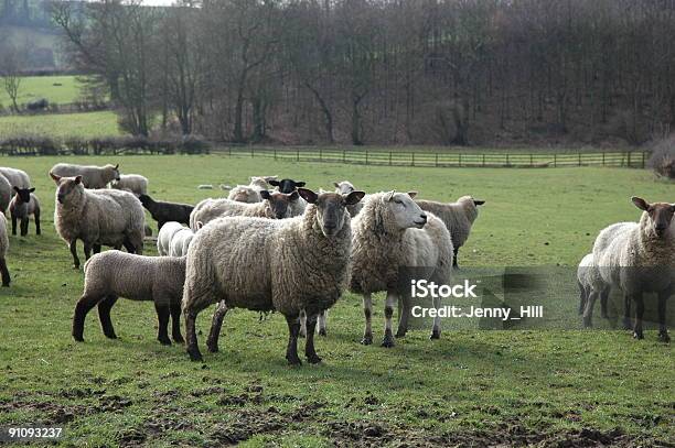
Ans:
[[[132,134],[641,144],[675,123],[672,0],[54,2]]]

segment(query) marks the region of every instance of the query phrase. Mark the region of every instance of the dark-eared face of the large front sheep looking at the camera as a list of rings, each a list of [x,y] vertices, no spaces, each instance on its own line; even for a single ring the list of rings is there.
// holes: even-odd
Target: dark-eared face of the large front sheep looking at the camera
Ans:
[[[317,195],[307,188],[299,188],[298,193],[304,200],[317,207],[317,221],[321,227],[321,232],[326,238],[334,237],[344,227],[346,217],[350,216],[346,206],[357,204],[365,196],[364,192],[352,192],[349,195],[339,193]]]

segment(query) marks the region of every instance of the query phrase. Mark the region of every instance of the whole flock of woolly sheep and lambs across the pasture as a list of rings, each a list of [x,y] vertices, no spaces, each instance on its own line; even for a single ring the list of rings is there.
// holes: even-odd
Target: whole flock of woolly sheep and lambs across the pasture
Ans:
[[[321,358],[314,332],[326,332],[326,312],[345,291],[363,296],[365,328],[362,343],[373,343],[372,294],[386,292],[383,347],[408,329],[410,303],[399,295],[401,271],[420,273],[437,284],[450,282],[458,250],[467,241],[484,204],[471,196],[444,204],[416,199],[416,193],[366,194],[350,182],[334,183],[333,192],[306,188],[304,182],[277,176],[251,177],[248,185],[232,188],[228,198],[208,198],[195,206],[159,201],[148,196],[148,179],[121,175],[119,166],[81,166],[60,163],[50,171],[55,182],[54,226],[68,244],[79,267],[76,242],[84,243],[85,286],[73,317],[73,337],[82,341],[87,313],[98,307],[101,328],[116,338],[110,309],[118,297],[153,301],[159,320],[158,340],[183,342],[180,318],[185,319],[186,349],[201,360],[195,319],[216,304],[207,348],[218,350],[223,319],[232,308],[285,316],[289,329],[286,358],[299,364],[298,338],[306,337],[309,362]],[[107,188],[110,185],[113,188]],[[40,204],[26,173],[0,168],[0,207],[28,233],[34,216],[40,233]],[[673,276],[626,266],[673,266],[675,206],[633,203],[642,209],[640,223],[610,226],[598,237],[593,252],[579,265],[579,310],[590,326],[593,304],[601,297],[606,315],[609,289],[620,288],[630,325],[630,304],[636,304],[635,337],[642,338],[643,292],[660,298],[660,337],[668,340],[665,302],[673,292]],[[160,256],[143,256],[146,208],[158,222]],[[0,219],[0,272],[8,286],[7,222]],[[110,247],[103,253],[103,245]],[[121,248],[127,252],[121,252]],[[94,254],[92,254],[94,253]],[[622,267],[620,267],[622,266]],[[394,307],[400,320],[393,328]],[[433,303],[435,307],[440,306]],[[319,328],[317,328],[319,326]],[[431,339],[440,337],[435,318]]]

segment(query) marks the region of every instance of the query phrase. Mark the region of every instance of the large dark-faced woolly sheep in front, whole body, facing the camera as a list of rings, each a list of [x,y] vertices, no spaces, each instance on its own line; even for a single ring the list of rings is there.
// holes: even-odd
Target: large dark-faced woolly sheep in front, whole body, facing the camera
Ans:
[[[361,200],[364,193],[317,195],[300,188],[298,194],[310,204],[302,216],[219,218],[192,240],[182,306],[192,360],[202,359],[195,332],[197,313],[223,301],[208,336],[211,352],[217,351],[228,309],[277,310],[289,328],[286,359],[300,364],[299,314],[304,309],[309,316],[304,353],[310,363],[321,362],[313,339],[317,315],[333,306],[346,286],[352,232],[345,207]]]

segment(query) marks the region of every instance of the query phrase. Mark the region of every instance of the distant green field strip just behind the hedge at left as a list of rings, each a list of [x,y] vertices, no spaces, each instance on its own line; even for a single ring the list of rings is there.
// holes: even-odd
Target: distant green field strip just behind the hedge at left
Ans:
[[[119,135],[110,111],[0,117],[0,136],[49,135],[57,139]]]

